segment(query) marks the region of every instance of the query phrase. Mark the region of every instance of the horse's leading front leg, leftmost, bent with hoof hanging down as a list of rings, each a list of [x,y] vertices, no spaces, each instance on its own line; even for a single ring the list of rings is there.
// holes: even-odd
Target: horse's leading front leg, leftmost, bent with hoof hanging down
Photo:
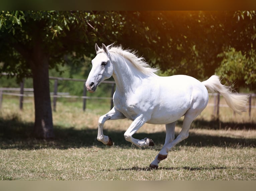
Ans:
[[[98,122],[98,135],[97,140],[103,142],[106,145],[112,146],[113,141],[109,136],[103,134],[103,126],[107,120],[117,120],[126,118],[123,113],[118,111],[115,107],[113,107],[108,113],[100,116]]]

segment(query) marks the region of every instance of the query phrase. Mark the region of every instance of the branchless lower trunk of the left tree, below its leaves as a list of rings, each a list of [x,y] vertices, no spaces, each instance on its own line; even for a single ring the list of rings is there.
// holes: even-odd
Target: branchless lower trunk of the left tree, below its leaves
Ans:
[[[49,89],[49,59],[42,52],[37,53],[31,63],[35,102],[34,135],[37,138],[50,139],[54,137],[54,133]]]

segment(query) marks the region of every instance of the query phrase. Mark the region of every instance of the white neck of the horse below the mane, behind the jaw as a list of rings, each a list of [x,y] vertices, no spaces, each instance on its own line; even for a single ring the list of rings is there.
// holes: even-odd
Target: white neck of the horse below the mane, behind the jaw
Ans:
[[[123,57],[113,63],[113,78],[120,93],[134,92],[134,88],[138,87],[142,79],[146,77],[129,60]]]

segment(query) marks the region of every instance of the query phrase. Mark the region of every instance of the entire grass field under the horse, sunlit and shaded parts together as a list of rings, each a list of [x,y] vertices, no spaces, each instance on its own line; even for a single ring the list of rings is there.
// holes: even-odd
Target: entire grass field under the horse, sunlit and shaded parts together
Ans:
[[[157,170],[149,170],[163,145],[164,125],[145,124],[134,137],[150,137],[155,146],[137,148],[123,137],[131,121],[107,121],[104,134],[115,142],[108,147],[96,137],[98,118],[109,106],[109,100],[90,100],[83,112],[81,100],[57,102],[55,139],[46,141],[31,137],[33,100],[26,99],[19,111],[17,98],[4,97],[0,180],[256,180],[255,109],[249,118],[221,108],[220,120],[212,120],[213,107],[208,106],[191,125],[189,137]],[[175,135],[181,124],[182,119]]]

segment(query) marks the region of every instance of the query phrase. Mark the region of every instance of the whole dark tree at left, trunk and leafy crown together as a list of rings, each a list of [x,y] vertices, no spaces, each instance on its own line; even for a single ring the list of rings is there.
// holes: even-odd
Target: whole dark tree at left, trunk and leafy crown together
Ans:
[[[118,18],[116,12],[1,11],[0,69],[18,80],[33,78],[36,137],[54,137],[48,69],[65,63],[65,55],[94,53],[95,42],[118,35]]]

